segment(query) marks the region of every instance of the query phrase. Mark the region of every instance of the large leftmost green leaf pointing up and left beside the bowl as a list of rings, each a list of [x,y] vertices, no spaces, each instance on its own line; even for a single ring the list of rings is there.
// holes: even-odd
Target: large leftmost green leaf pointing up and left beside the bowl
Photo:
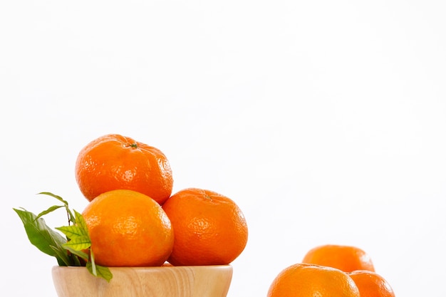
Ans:
[[[66,244],[66,239],[58,232],[50,229],[45,224],[45,220],[37,219],[36,214],[21,209],[14,209],[14,211],[19,214],[31,244],[43,253],[58,258],[59,255],[55,252],[55,249],[62,250],[61,246]]]

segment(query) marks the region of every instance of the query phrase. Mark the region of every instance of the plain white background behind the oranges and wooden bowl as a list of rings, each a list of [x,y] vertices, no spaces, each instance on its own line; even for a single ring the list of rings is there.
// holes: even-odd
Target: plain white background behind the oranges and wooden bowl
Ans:
[[[74,162],[119,133],[174,192],[234,199],[228,297],[313,246],[367,251],[397,296],[445,296],[444,1],[1,1],[2,291],[56,297],[13,207],[82,210]],[[54,201],[55,202],[55,201]],[[65,217],[48,217],[51,226]]]

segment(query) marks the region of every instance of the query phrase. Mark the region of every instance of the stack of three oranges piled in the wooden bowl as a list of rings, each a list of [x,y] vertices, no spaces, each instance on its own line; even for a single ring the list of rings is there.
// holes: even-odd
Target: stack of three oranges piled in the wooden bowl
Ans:
[[[165,154],[130,137],[104,135],[83,147],[76,181],[89,201],[82,214],[99,265],[225,265],[247,244],[232,199],[197,188],[172,194]]]

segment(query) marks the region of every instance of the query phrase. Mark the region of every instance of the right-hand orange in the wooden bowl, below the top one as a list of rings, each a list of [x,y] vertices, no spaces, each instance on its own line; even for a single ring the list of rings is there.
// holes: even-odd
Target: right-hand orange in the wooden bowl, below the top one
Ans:
[[[228,197],[189,188],[162,205],[172,222],[175,244],[167,261],[179,265],[226,265],[242,253],[248,227],[242,211]]]

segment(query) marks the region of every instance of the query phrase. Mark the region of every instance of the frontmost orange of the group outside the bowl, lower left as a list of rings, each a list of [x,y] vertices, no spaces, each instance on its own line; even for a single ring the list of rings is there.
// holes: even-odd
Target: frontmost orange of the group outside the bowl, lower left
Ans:
[[[347,273],[327,266],[294,264],[282,270],[267,297],[360,297]],[[361,296],[362,297],[362,296]]]

